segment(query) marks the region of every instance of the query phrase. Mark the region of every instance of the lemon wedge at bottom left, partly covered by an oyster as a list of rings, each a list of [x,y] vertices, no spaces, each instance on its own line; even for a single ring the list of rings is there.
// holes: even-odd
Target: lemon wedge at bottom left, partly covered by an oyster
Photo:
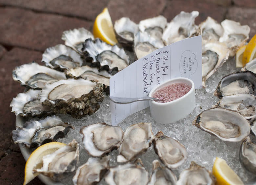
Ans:
[[[49,142],[35,149],[26,162],[25,178],[24,178],[23,185],[28,184],[31,180],[33,180],[36,176],[38,176],[38,173],[33,174],[33,169],[41,168],[43,166],[43,163],[42,163],[43,156],[52,154],[53,152],[55,152],[56,150],[58,150],[59,148],[65,145],[66,144],[61,142]]]

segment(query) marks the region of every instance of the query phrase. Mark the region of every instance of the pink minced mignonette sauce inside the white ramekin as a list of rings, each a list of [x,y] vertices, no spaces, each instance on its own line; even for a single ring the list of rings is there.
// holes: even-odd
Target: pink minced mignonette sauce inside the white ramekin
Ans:
[[[186,83],[172,83],[170,85],[164,86],[154,92],[153,98],[158,98],[161,103],[171,102],[178,98],[181,98],[191,89],[191,86]]]

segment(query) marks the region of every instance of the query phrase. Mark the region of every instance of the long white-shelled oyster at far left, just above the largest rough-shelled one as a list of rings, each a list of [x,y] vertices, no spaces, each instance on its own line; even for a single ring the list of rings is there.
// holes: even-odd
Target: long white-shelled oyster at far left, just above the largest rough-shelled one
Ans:
[[[42,89],[46,83],[67,79],[64,73],[35,62],[15,67],[12,78],[30,89]]]

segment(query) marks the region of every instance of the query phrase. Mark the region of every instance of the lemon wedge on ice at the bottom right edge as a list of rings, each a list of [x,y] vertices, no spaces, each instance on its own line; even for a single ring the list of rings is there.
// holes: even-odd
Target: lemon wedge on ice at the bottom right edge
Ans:
[[[240,177],[227,165],[222,158],[216,157],[212,173],[216,177],[216,185],[243,185]]]

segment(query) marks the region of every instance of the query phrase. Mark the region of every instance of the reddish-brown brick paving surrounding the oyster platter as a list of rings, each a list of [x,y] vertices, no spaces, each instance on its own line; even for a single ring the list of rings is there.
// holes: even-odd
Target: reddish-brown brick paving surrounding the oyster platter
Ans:
[[[126,16],[135,22],[164,15],[170,21],[181,10],[198,10],[200,23],[207,16],[248,24],[250,37],[256,33],[255,0],[0,0],[0,184],[22,184],[25,160],[11,140],[15,115],[9,107],[13,97],[24,90],[12,80],[17,65],[40,63],[42,52],[63,43],[62,31],[85,27],[92,30],[96,15],[108,7],[113,21]],[[35,178],[29,184],[43,184]]]

